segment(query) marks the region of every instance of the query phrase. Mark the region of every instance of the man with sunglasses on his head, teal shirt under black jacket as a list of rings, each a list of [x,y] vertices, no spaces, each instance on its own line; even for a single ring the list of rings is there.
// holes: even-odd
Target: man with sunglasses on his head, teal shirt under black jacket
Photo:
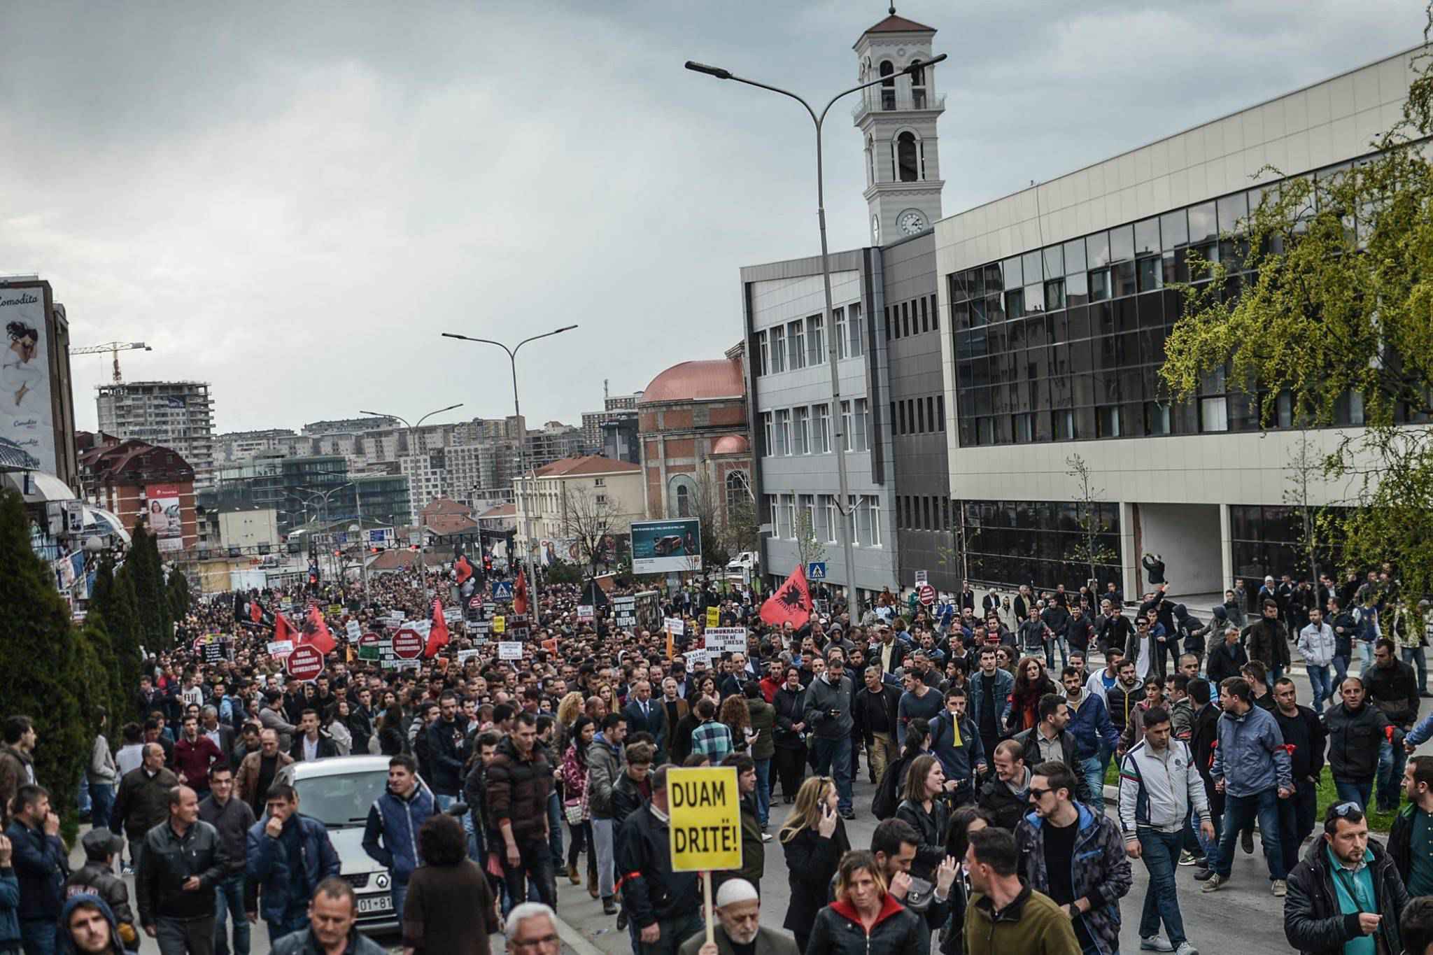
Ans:
[[[1301,952],[1401,952],[1399,919],[1409,893],[1393,858],[1369,838],[1356,802],[1324,815],[1314,840],[1288,876],[1284,938]]]

